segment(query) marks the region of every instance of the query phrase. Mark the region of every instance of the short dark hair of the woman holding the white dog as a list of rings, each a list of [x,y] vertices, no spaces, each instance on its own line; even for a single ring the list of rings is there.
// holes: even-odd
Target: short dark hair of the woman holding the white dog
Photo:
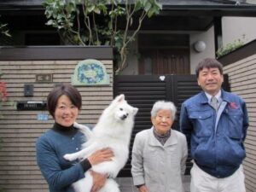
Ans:
[[[79,90],[71,84],[56,85],[47,96],[47,108],[53,118],[55,118],[55,108],[57,106],[58,99],[63,95],[67,96],[72,104],[77,108],[81,109],[82,107],[82,97]]]

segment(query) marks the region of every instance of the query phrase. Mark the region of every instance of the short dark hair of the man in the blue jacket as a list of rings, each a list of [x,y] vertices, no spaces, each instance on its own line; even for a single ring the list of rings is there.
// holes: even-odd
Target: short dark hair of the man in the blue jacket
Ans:
[[[195,68],[195,74],[197,78],[199,77],[199,73],[203,68],[218,68],[219,73],[223,74],[223,66],[216,59],[206,58],[198,63],[197,67]]]

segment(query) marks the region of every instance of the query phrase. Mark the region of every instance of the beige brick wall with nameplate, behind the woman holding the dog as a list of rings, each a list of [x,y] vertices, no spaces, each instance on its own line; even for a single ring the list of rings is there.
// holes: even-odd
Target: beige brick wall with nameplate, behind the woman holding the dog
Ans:
[[[0,58],[1,59],[1,58]],[[80,60],[79,60],[80,61]],[[70,83],[73,70],[79,61],[0,61],[3,76],[0,81],[7,84],[9,101],[45,101],[55,84]],[[83,107],[78,122],[95,124],[102,110],[113,99],[113,61],[100,60],[110,76],[107,86],[80,86]],[[52,83],[37,83],[38,73],[51,73]],[[25,97],[24,84],[34,85],[34,96]],[[48,185],[38,169],[35,157],[35,142],[53,124],[53,119],[38,120],[39,113],[47,111],[18,111],[9,103],[0,108],[0,187],[5,192],[46,192]]]

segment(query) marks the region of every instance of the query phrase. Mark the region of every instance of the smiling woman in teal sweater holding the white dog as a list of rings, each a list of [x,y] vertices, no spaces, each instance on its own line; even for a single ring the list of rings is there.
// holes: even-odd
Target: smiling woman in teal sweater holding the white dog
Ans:
[[[84,134],[73,126],[79,115],[82,99],[79,91],[72,85],[61,84],[49,93],[47,106],[55,124],[38,138],[38,166],[49,184],[50,192],[74,192],[72,183],[83,178],[84,172],[89,171],[92,165],[111,160],[113,152],[106,148],[96,151],[81,162],[64,160],[64,154],[80,150],[82,143],[86,141]],[[93,176],[94,192],[101,189],[108,176],[91,171],[90,173]]]

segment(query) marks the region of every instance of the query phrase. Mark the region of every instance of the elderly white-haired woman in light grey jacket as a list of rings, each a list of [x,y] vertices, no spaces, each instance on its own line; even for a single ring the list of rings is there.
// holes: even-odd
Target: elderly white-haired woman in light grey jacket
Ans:
[[[183,192],[186,137],[172,130],[177,109],[172,102],[155,102],[153,127],[137,133],[131,160],[133,183],[140,192]]]

